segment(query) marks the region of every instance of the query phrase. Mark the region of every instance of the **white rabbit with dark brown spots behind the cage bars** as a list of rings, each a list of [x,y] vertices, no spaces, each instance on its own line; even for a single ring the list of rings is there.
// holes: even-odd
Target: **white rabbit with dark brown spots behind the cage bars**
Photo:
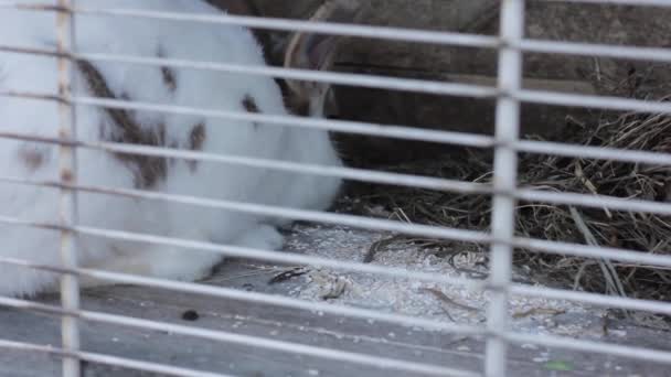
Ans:
[[[54,1],[55,2],[55,1]],[[22,4],[44,0],[22,0]],[[131,8],[216,14],[204,0],[79,0],[77,6]],[[327,2],[315,18],[340,20],[355,11]],[[54,49],[55,13],[0,10],[0,45]],[[82,53],[184,58],[264,65],[253,34],[245,28],[142,18],[77,14],[76,49]],[[338,39],[294,35],[285,64],[327,68]],[[266,76],[211,71],[81,62],[75,65],[73,91],[79,96],[177,105],[216,110],[274,115],[295,112],[320,117],[328,85],[287,82],[287,105],[276,82]],[[57,93],[56,61],[52,57],[0,53],[0,91]],[[290,110],[287,110],[290,108]],[[115,141],[246,155],[324,165],[341,162],[328,132],[200,116],[125,111],[77,106],[77,139]],[[53,101],[0,97],[0,132],[57,137],[57,105]],[[0,139],[0,175],[56,180],[57,146]],[[140,188],[214,200],[263,203],[294,208],[326,209],[340,180],[213,162],[123,155],[77,149],[77,182],[82,185]],[[78,224],[132,233],[278,249],[283,236],[275,226],[288,220],[224,212],[163,201],[78,193]],[[55,223],[57,190],[0,183],[0,216]],[[60,234],[0,225],[0,257],[40,265],[60,265]],[[221,261],[221,256],[107,238],[79,236],[79,265],[166,279],[195,280]],[[0,295],[31,295],[53,290],[58,276],[0,263]],[[92,284],[94,282],[86,282]],[[95,282],[99,283],[99,282]]]

